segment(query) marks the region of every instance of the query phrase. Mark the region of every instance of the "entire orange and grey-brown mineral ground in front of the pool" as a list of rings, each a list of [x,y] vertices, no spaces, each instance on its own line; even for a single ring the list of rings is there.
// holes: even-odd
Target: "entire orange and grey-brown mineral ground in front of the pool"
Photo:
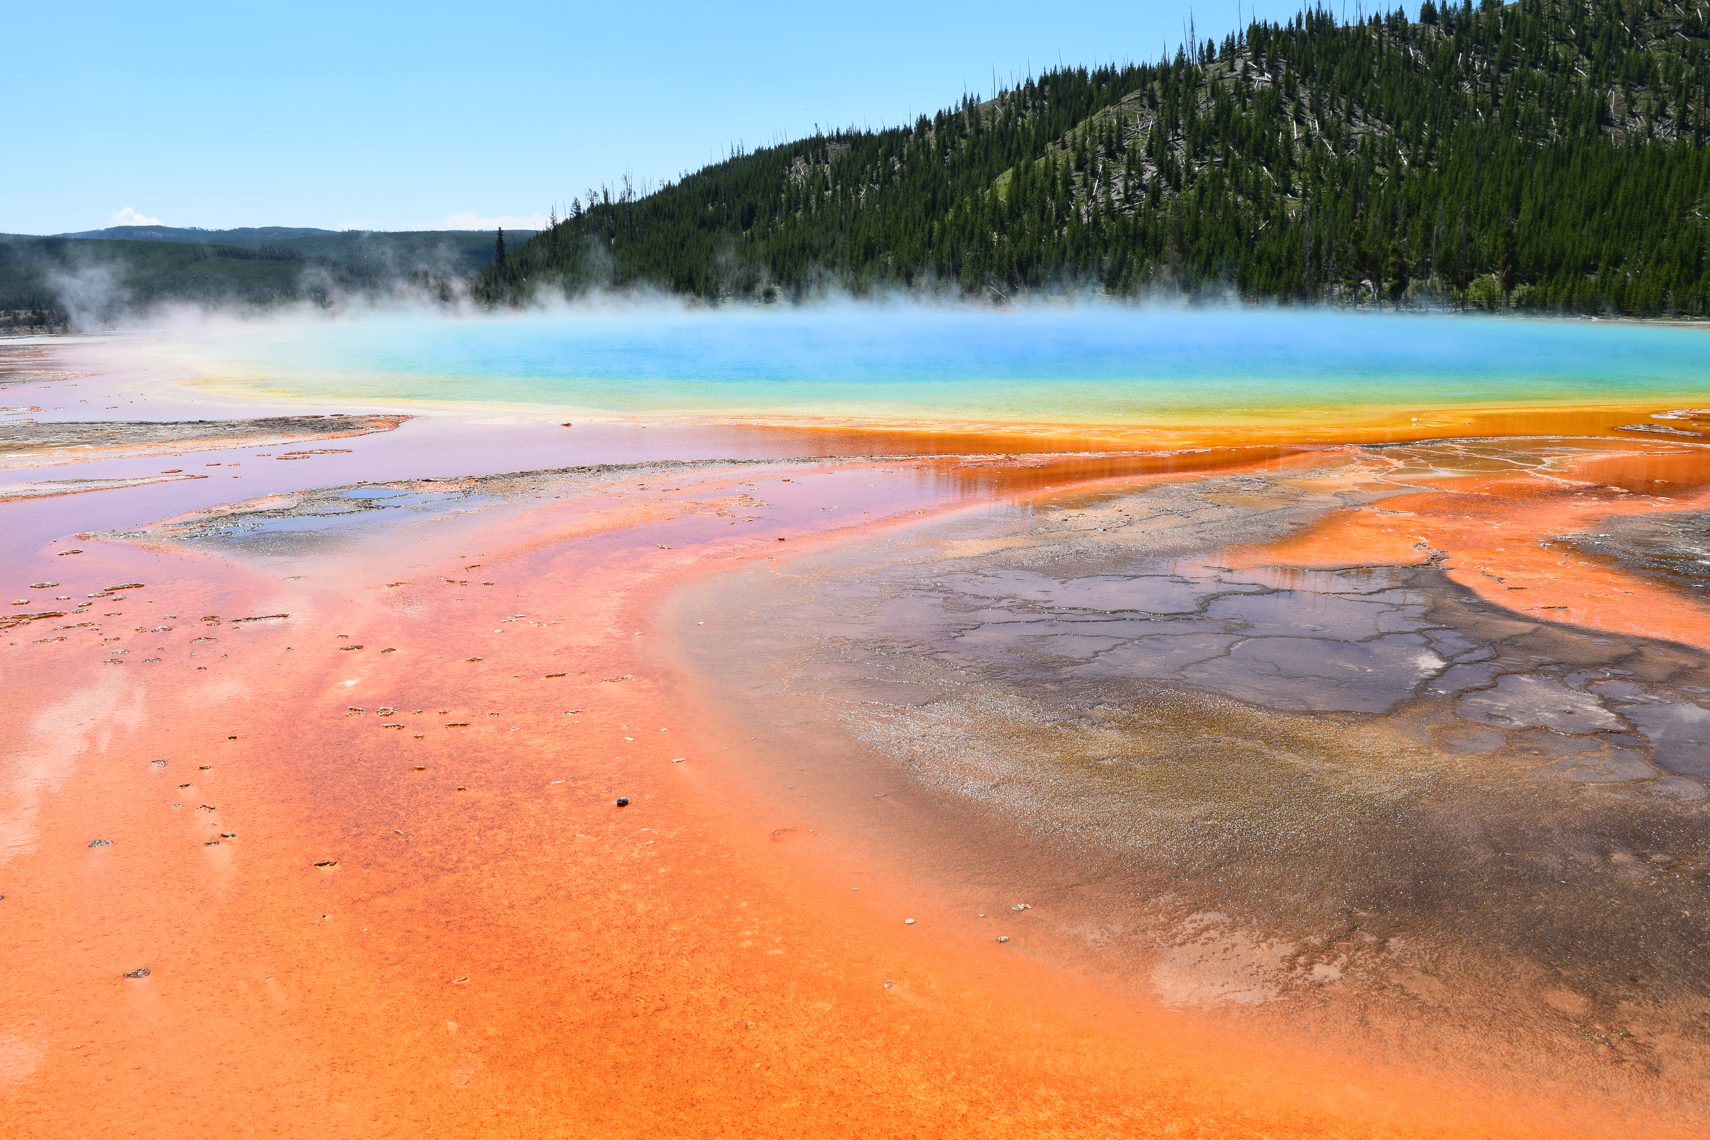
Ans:
[[[545,427],[0,504],[22,1135],[1703,1131],[1698,448]]]

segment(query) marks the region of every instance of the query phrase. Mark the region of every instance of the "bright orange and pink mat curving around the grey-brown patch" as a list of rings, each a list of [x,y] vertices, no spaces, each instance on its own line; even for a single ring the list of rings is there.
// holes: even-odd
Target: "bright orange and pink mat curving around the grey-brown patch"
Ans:
[[[9,1119],[371,1137],[1373,1118],[1262,1041],[1144,1005],[1113,1020],[958,931],[932,884],[874,873],[841,899],[790,858],[793,812],[756,827],[775,812],[727,769],[758,749],[698,716],[652,646],[696,562],[764,564],[778,532],[838,526],[797,484],[811,468],[785,470],[646,472],[670,475],[652,494],[634,472],[522,480],[479,513],[374,511],[412,525],[342,545],[268,532],[265,554],[226,514],[178,530],[188,549],[84,538],[55,559],[113,617],[9,649],[32,656],[5,921],[36,964]],[[932,509],[934,491],[870,502]],[[730,533],[761,508],[759,533]]]

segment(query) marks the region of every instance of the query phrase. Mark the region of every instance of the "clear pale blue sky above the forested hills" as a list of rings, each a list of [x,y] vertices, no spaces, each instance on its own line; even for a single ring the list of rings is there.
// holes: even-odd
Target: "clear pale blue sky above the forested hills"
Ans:
[[[1154,60],[1190,9],[983,0],[166,0],[5,17],[0,232],[522,226],[624,173],[675,178],[814,125],[899,123],[1064,63]],[[1353,7],[1349,5],[1349,10]]]

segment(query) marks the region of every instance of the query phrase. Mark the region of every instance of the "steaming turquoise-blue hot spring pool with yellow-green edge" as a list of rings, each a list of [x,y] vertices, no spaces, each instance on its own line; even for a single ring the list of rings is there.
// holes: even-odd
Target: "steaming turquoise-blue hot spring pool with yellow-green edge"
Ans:
[[[1123,424],[1301,408],[1710,398],[1683,326],[908,306],[376,314],[205,342],[222,383],[605,414]]]

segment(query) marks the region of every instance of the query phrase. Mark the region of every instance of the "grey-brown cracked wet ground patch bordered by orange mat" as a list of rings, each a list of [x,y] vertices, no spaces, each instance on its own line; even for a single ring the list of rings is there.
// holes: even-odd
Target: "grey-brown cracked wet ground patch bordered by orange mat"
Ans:
[[[843,735],[799,786],[867,755],[961,805],[964,844],[922,858],[971,901],[970,848],[1035,843],[1038,882],[1005,873],[1088,969],[1385,1055],[1701,1101],[1710,656],[1493,605],[1428,544],[1267,562],[1416,472],[1542,465],[1406,458],[1400,485],[1356,453],[1035,497],[725,576],[694,615],[725,631],[732,701]],[[1650,518],[1678,516],[1628,523]]]

